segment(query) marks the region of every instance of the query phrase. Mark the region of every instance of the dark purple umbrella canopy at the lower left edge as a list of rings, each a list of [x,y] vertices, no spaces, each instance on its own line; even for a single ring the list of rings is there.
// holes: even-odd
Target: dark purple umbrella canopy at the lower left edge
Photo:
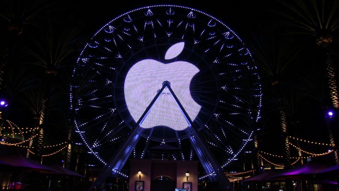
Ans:
[[[1,156],[0,161],[9,164],[12,167],[20,168],[21,171],[58,174],[57,171],[20,155]]]

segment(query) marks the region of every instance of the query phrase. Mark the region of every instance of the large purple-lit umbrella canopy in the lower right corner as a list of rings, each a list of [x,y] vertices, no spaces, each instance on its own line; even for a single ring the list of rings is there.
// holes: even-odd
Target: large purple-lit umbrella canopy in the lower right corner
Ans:
[[[328,165],[318,163],[307,163],[272,176],[270,179],[309,180],[313,178],[313,175],[328,167]]]

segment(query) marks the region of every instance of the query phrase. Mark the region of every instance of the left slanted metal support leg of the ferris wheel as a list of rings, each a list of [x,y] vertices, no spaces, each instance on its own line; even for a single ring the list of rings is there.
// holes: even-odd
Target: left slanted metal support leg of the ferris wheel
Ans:
[[[130,136],[127,138],[127,140],[124,142],[124,144],[122,144],[121,147],[117,150],[117,152],[113,155],[114,157],[112,157],[110,161],[107,163],[107,165],[103,167],[103,170],[98,175],[96,181],[91,185],[91,187],[89,188],[89,191],[100,189],[105,183],[105,180],[110,175],[120,172],[121,169],[124,167],[127,159],[130,157],[130,155],[133,152],[133,148],[137,145],[140,139],[140,133],[143,131],[143,128],[141,128],[141,124],[147,118],[154,103],[157,101],[159,96],[162,94],[166,86],[168,86],[168,84],[164,83],[163,87],[158,91],[157,95],[153,98],[150,105],[146,108],[145,112],[138,120],[136,128],[134,128],[134,130],[132,131]]]

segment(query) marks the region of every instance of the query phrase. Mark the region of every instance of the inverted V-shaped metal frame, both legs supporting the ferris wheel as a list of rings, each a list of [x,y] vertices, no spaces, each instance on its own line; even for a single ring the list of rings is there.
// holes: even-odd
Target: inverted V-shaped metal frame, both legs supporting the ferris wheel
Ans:
[[[219,181],[219,187],[222,189],[229,188],[229,190],[232,190],[232,185],[224,175],[221,166],[217,163],[213,155],[210,153],[210,151],[207,149],[207,146],[205,145],[205,142],[201,139],[199,136],[199,132],[196,131],[192,127],[192,121],[190,120],[188,114],[184,110],[183,106],[180,104],[178,98],[175,96],[173,90],[170,88],[170,83],[168,81],[165,81],[163,83],[163,87],[161,90],[157,93],[157,95],[154,97],[150,105],[146,108],[143,115],[140,117],[139,121],[137,122],[137,126],[134,128],[133,132],[130,134],[128,139],[125,141],[125,143],[120,147],[120,149],[116,152],[115,155],[111,158],[109,163],[103,168],[103,171],[99,174],[97,180],[92,184],[90,187],[90,191],[98,188],[100,189],[105,180],[108,176],[112,174],[112,170],[121,171],[121,169],[124,167],[127,159],[133,152],[133,148],[137,145],[139,139],[140,139],[140,133],[143,131],[141,128],[142,123],[150,113],[152,107],[156,103],[157,99],[160,97],[162,92],[165,88],[168,88],[171,95],[175,99],[175,102],[177,103],[180,111],[182,112],[183,117],[185,118],[187,122],[188,128],[185,129],[185,132],[190,135],[189,141],[191,142],[196,154],[198,155],[198,158],[205,169],[207,174],[214,173]]]

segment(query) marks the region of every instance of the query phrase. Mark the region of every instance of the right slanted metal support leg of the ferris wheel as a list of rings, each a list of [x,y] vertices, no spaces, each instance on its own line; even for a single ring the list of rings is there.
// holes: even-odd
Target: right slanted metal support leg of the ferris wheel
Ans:
[[[178,98],[175,96],[173,90],[170,88],[170,84],[167,84],[170,93],[172,94],[173,98],[175,99],[175,102],[177,103],[178,107],[181,110],[181,113],[183,117],[186,119],[188,128],[186,129],[186,133],[190,135],[189,141],[192,144],[195,153],[197,154],[204,170],[208,175],[215,174],[218,182],[219,187],[222,190],[233,190],[232,184],[228,181],[227,177],[225,176],[221,166],[217,163],[213,155],[210,153],[210,151],[207,149],[207,146],[205,145],[204,141],[199,136],[199,132],[197,132],[192,127],[192,121],[190,120],[188,114],[184,110],[183,106],[180,104]]]

